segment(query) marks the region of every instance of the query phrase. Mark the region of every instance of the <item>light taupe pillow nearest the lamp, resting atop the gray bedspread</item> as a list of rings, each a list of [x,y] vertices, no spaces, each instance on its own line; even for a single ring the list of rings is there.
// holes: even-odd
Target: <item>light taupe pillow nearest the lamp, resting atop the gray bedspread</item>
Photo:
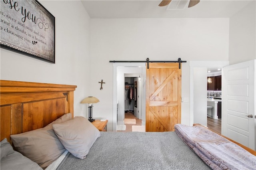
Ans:
[[[74,117],[52,127],[68,152],[80,159],[86,157],[95,140],[100,137],[100,131],[84,117]]]

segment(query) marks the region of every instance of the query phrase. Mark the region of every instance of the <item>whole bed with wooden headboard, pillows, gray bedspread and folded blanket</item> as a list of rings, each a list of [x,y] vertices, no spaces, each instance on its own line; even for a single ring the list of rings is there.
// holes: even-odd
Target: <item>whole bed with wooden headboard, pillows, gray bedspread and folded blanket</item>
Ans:
[[[74,117],[75,85],[5,80],[0,85],[1,169],[256,167],[255,151],[200,125],[177,124],[175,132],[99,132],[84,117]]]

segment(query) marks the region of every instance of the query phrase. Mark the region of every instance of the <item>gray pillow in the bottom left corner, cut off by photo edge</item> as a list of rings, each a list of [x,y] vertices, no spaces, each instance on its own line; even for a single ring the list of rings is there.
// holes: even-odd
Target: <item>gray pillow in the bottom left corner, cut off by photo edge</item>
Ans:
[[[13,150],[6,138],[1,141],[1,170],[42,170],[42,168],[21,153]]]

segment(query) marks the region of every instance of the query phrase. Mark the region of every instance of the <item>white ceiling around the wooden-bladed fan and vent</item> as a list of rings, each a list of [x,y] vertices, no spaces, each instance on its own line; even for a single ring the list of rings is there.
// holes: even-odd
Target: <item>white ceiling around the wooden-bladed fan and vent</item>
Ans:
[[[168,6],[158,6],[161,1],[82,0],[82,4],[90,18],[229,18],[255,0],[200,0],[184,10],[166,10]]]

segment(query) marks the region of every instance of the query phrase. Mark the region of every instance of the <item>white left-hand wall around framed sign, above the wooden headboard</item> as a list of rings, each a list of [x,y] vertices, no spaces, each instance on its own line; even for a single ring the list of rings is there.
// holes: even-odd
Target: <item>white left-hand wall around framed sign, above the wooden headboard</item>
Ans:
[[[90,94],[90,18],[80,1],[39,2],[55,16],[56,63],[1,48],[3,80],[77,85],[74,115],[87,116],[80,101]]]

